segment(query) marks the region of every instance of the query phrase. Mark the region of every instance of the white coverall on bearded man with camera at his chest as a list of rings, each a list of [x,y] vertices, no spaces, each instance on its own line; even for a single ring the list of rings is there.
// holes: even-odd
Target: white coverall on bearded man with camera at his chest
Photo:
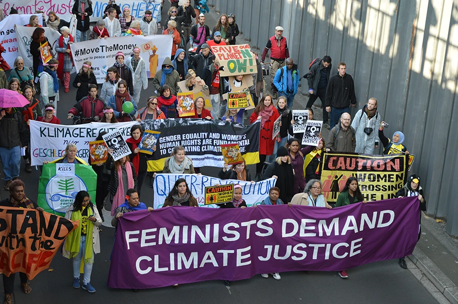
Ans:
[[[361,116],[363,114],[363,116]],[[369,119],[363,109],[359,110],[352,121],[352,127],[356,131],[356,153],[373,154],[375,143],[381,144],[379,139],[380,114],[377,112]],[[366,134],[364,128],[372,128],[371,134]]]

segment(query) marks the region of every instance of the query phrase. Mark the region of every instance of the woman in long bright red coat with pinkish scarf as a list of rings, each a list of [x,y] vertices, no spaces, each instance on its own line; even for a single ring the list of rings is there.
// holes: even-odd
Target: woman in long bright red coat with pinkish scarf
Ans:
[[[261,172],[266,158],[274,151],[274,140],[272,131],[274,122],[279,117],[277,109],[272,104],[272,96],[266,94],[251,114],[250,122],[261,121],[261,132],[259,134],[259,163],[256,165],[256,181],[260,181]]]

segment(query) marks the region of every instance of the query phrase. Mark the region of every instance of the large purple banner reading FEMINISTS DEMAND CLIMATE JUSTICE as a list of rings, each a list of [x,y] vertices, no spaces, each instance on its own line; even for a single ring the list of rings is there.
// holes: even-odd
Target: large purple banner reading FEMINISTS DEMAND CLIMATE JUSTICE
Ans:
[[[339,271],[410,255],[416,197],[334,209],[167,207],[120,218],[108,286],[154,288],[259,273]]]

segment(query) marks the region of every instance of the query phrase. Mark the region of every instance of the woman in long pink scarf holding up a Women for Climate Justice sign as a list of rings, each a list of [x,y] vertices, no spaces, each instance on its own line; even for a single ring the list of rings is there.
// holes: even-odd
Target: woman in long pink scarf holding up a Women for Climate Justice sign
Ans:
[[[108,184],[108,191],[113,200],[111,216],[115,216],[116,208],[124,204],[127,190],[132,188],[138,189],[137,173],[134,164],[129,162],[129,156],[124,156],[116,161],[111,169],[111,178]]]

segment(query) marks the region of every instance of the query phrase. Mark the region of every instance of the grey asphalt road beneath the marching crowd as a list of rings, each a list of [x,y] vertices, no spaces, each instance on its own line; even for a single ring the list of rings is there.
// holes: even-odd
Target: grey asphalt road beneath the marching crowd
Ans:
[[[164,8],[164,13],[168,7]],[[165,20],[165,17],[163,17]],[[207,24],[212,28],[215,19],[207,15]],[[73,81],[73,77],[72,77]],[[151,84],[151,82],[150,82]],[[153,95],[152,85],[142,92],[140,106],[144,106],[146,97]],[[58,118],[62,123],[69,124],[66,119],[67,110],[75,103],[76,89],[61,94]],[[254,166],[249,166],[254,174]],[[217,175],[216,168],[203,168],[204,175]],[[26,184],[26,194],[32,199],[37,198],[39,171],[32,174],[24,172],[21,167],[20,178]],[[3,172],[1,173],[3,178]],[[146,181],[147,182],[147,181]],[[6,198],[7,191],[0,190],[0,196]],[[142,201],[153,206],[153,191],[148,185],[143,187]],[[106,222],[109,222],[108,220]],[[105,222],[105,223],[106,223]],[[60,253],[51,263],[54,269],[51,272],[43,271],[32,282],[31,294],[24,294],[20,290],[19,278],[16,281],[16,303],[135,303],[135,302],[162,302],[162,303],[275,303],[275,302],[330,302],[342,303],[434,303],[435,299],[409,270],[401,269],[396,260],[376,262],[357,267],[348,271],[350,278],[341,279],[336,272],[287,272],[282,273],[280,281],[272,277],[268,279],[256,275],[251,279],[233,282],[226,287],[221,281],[205,281],[193,284],[184,284],[178,287],[164,287],[158,289],[140,290],[134,293],[131,290],[110,289],[106,286],[109,269],[109,256],[114,240],[114,229],[102,227],[100,232],[101,253],[95,257],[91,284],[97,292],[89,294],[87,291],[74,289],[72,284],[71,261],[62,257]],[[2,280],[0,278],[0,280]],[[3,290],[0,290],[3,297]],[[1,297],[0,297],[1,299]]]

